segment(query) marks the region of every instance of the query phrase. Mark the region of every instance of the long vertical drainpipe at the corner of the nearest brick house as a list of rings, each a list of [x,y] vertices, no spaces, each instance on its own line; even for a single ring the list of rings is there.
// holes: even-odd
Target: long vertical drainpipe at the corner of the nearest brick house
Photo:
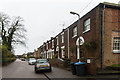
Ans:
[[[104,56],[104,9],[105,5],[103,5],[103,10],[102,10],[102,43],[101,43],[101,70],[103,70],[103,56]]]

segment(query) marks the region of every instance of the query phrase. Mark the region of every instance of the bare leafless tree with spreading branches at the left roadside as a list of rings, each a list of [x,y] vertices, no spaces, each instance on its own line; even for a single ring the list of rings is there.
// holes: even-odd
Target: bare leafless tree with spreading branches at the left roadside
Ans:
[[[10,18],[7,14],[0,13],[0,29],[2,44],[7,46],[9,51],[13,49],[15,44],[25,45],[26,29],[20,16]]]

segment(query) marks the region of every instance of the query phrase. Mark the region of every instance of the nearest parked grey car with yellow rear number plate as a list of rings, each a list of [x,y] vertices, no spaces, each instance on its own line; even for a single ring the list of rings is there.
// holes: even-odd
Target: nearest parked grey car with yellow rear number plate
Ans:
[[[47,59],[37,59],[35,66],[34,66],[34,70],[36,73],[38,71],[43,71],[43,70],[47,70],[51,72],[52,68]]]

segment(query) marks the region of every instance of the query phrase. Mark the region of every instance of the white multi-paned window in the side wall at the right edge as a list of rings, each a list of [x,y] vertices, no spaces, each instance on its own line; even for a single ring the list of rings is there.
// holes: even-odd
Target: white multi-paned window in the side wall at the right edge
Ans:
[[[120,53],[120,37],[114,37],[113,39],[113,52]]]

